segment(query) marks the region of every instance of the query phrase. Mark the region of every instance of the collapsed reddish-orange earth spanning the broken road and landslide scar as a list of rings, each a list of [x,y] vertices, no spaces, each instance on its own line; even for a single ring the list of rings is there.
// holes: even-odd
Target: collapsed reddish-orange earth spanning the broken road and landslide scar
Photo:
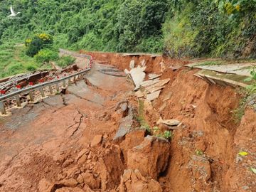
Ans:
[[[256,113],[235,116],[239,90],[195,77],[188,61],[90,55],[83,80],[0,117],[0,191],[256,191]],[[146,79],[170,78],[153,102],[139,101],[123,73],[131,60],[146,62]],[[167,129],[160,117],[181,124],[164,139],[139,113],[151,129]]]

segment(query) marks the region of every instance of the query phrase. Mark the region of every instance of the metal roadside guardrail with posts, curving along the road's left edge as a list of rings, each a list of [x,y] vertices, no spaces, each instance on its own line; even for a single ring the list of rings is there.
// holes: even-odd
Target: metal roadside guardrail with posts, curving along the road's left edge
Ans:
[[[50,90],[50,94],[53,94],[53,85],[55,85],[55,89],[57,90],[57,92],[60,91],[60,83],[63,83],[63,87],[66,87],[66,80],[68,80],[68,85],[70,85],[72,83],[72,78],[73,78],[73,82],[75,82],[76,80],[80,79],[80,77],[86,73],[87,71],[89,71],[92,67],[92,56],[90,55],[85,55],[85,54],[80,54],[80,53],[73,53],[71,51],[68,50],[63,50],[60,49],[60,53],[65,53],[68,55],[74,55],[75,57],[80,57],[80,58],[87,58],[89,60],[90,63],[87,63],[87,68],[85,70],[82,70],[78,73],[75,73],[73,75],[68,75],[67,77],[64,78],[60,78],[58,80],[52,80],[50,82],[43,82],[39,85],[33,85],[31,87],[26,87],[24,89],[21,90],[17,90],[15,92],[11,92],[7,95],[3,95],[0,96],[0,110],[1,110],[1,114],[6,114],[6,108],[4,106],[4,102],[7,100],[10,100],[12,98],[14,98],[16,100],[17,106],[21,107],[21,99],[20,99],[20,95],[24,95],[24,94],[28,94],[30,97],[31,102],[34,101],[33,98],[33,91],[39,90],[41,92],[41,96],[45,97],[45,93],[43,91],[44,87],[49,87]],[[89,64],[89,65],[88,65]],[[78,77],[78,78],[77,78]]]

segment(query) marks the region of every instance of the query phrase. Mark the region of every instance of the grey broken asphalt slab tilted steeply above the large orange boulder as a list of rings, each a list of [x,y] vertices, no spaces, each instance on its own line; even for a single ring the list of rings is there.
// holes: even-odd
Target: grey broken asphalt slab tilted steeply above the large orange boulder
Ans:
[[[133,119],[134,119],[133,109],[129,108],[127,117],[122,118],[120,121],[119,129],[114,136],[114,140],[124,137],[127,133],[129,133],[132,130]]]

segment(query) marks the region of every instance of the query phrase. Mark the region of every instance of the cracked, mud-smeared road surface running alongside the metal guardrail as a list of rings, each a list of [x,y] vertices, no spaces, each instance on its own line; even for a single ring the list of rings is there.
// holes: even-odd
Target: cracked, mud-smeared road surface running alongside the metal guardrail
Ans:
[[[96,64],[85,75],[86,80],[70,85],[65,95],[48,97],[12,110],[9,117],[1,117],[0,191],[37,191],[35,183],[40,178],[34,178],[35,183],[27,180],[39,166],[31,166],[35,156],[55,159],[60,151],[85,147],[95,133],[103,132],[103,126],[109,129],[113,125],[99,124],[98,117],[113,109],[119,97],[126,97],[132,85],[126,78],[97,71],[105,68]]]

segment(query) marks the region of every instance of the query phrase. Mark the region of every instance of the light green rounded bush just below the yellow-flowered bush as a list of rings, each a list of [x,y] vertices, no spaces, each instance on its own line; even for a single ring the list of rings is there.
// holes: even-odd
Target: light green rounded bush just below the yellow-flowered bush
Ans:
[[[49,63],[50,60],[58,60],[58,52],[50,50],[50,49],[43,49],[35,55],[36,61],[38,63]]]

